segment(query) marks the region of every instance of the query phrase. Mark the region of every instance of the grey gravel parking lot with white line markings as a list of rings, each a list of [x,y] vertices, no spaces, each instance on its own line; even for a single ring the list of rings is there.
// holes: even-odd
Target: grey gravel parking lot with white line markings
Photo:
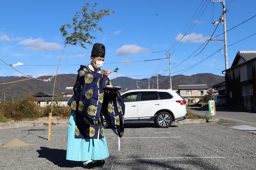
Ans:
[[[213,123],[177,124],[168,129],[126,126],[118,152],[118,139],[105,129],[112,170],[236,170],[256,169],[256,134]],[[26,147],[0,147],[0,170],[84,169],[66,160],[67,127],[27,127],[0,130],[0,144],[18,138]]]

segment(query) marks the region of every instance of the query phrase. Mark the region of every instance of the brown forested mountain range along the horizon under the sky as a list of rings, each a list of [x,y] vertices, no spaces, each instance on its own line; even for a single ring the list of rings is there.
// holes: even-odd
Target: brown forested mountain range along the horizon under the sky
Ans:
[[[76,82],[76,74],[59,74],[56,77],[54,94],[62,96],[61,92],[64,92],[66,87],[73,87]],[[38,92],[53,92],[54,80],[45,82],[52,76],[42,76],[41,80],[29,78],[29,77],[16,77],[6,76],[0,77],[0,100],[15,100],[21,99],[24,96],[34,95]],[[114,86],[121,86],[122,89],[132,90],[136,89],[137,86],[140,89],[148,89],[148,80],[150,89],[157,88],[170,89],[170,76],[152,76],[150,79],[133,79],[128,77],[117,77],[111,81]],[[178,85],[201,85],[207,84],[209,88],[212,85],[218,84],[225,81],[225,76],[218,76],[211,73],[199,73],[191,76],[176,75],[172,77],[172,90],[178,90]]]

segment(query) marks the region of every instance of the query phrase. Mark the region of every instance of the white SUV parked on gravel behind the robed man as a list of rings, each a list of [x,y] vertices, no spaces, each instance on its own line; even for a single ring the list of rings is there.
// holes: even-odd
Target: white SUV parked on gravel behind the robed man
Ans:
[[[168,128],[187,118],[186,101],[173,90],[137,89],[121,94],[125,104],[124,123],[156,123]]]

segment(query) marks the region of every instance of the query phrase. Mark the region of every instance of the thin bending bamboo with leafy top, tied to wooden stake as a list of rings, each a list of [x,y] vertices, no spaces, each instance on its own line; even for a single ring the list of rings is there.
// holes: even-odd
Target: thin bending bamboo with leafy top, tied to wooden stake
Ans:
[[[96,11],[96,6],[97,6],[97,3],[95,3],[92,6],[92,9],[89,9],[90,4],[85,2],[82,10],[76,12],[75,17],[73,18],[72,26],[70,24],[64,24],[63,26],[60,27],[60,32],[62,34],[62,38],[64,41],[64,48],[60,55],[60,60],[63,55],[64,49],[68,44],[71,44],[71,45],[78,44],[84,49],[87,49],[86,44],[92,45],[92,41],[96,38],[90,35],[90,32],[95,32],[96,30],[102,31],[102,27],[98,27],[99,21],[102,20],[103,17],[114,13],[114,11],[110,11],[110,9],[109,10],[101,9],[99,11]],[[70,33],[69,36],[68,36],[68,31],[66,29],[72,29],[72,32]],[[51,109],[51,118],[50,118],[51,123],[49,124],[50,132],[49,132],[48,140],[51,140],[53,99],[54,99],[55,83],[56,83],[56,77],[57,77],[59,65],[60,65],[60,61],[57,67],[54,85],[53,85],[52,109]]]

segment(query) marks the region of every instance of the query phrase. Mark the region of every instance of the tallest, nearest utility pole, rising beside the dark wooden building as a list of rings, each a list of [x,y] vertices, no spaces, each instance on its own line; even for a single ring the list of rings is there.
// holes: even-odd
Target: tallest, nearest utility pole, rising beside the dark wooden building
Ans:
[[[225,0],[222,1],[211,1],[211,2],[220,2],[222,4],[223,13],[220,15],[220,23],[223,23],[224,26],[224,51],[225,51],[225,70],[228,69],[228,45],[227,45],[227,29],[226,29],[226,11],[225,7]],[[215,20],[212,22],[214,25],[216,25],[218,22]]]

